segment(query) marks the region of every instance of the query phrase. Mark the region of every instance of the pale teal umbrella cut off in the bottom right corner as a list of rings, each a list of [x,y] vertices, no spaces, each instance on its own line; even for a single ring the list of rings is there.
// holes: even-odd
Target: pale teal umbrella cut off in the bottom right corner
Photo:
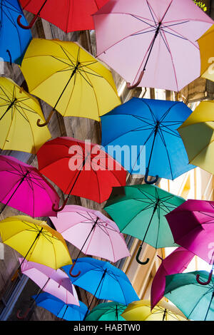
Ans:
[[[214,320],[214,276],[209,284],[198,284],[196,276],[207,282],[209,272],[195,271],[165,277],[164,297],[168,298],[190,320]]]

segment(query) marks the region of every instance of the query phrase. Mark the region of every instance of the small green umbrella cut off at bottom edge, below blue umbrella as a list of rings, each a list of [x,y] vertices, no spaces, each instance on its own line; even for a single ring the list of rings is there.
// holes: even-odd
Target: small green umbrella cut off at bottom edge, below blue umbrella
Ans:
[[[126,305],[119,304],[116,301],[98,304],[88,314],[86,321],[125,321],[121,314],[126,307]]]

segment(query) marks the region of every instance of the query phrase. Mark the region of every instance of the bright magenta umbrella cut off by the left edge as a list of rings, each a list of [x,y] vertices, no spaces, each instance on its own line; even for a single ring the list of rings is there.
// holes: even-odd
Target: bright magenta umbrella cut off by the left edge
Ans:
[[[0,202],[31,217],[56,216],[60,198],[39,170],[14,157],[0,155]]]

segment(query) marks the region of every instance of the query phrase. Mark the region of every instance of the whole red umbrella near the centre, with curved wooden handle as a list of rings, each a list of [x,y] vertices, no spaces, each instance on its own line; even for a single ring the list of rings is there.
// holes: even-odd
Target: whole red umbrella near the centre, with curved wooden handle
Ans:
[[[126,185],[126,170],[90,141],[55,138],[41,146],[37,158],[39,171],[68,197],[72,194],[101,203],[108,200],[112,187]]]

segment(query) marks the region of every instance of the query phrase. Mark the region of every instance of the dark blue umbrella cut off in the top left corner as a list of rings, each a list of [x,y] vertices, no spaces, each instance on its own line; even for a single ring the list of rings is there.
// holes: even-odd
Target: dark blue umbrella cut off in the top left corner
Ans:
[[[19,1],[1,0],[0,57],[6,62],[17,64],[21,64],[32,39],[31,31],[22,29],[17,23],[19,14],[23,15]],[[26,24],[28,24],[27,21]]]

